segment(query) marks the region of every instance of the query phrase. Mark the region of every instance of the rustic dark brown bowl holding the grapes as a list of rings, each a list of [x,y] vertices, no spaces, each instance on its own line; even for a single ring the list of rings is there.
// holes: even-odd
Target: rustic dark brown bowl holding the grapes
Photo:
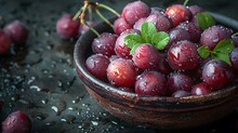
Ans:
[[[214,14],[220,24],[238,30],[238,22]],[[111,22],[115,18],[110,19]],[[94,27],[98,32],[113,31],[105,23]],[[82,35],[75,45],[74,59],[79,78],[88,92],[111,115],[137,125],[156,129],[186,129],[208,124],[232,112],[238,105],[238,85],[222,89],[203,96],[159,97],[138,96],[121,91],[94,78],[84,62],[92,54],[96,36]]]

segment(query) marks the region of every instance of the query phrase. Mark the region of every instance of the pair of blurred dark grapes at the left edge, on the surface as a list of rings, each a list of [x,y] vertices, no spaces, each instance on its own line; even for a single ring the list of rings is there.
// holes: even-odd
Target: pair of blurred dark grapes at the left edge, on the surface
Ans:
[[[13,21],[0,29],[0,55],[8,54],[12,44],[23,45],[28,38],[27,27],[19,21]]]

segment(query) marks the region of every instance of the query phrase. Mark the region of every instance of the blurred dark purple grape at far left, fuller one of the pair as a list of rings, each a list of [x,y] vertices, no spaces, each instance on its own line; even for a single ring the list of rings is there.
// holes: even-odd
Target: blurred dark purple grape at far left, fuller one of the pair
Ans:
[[[27,27],[17,19],[5,25],[3,30],[10,36],[12,42],[17,45],[24,44],[29,35]]]

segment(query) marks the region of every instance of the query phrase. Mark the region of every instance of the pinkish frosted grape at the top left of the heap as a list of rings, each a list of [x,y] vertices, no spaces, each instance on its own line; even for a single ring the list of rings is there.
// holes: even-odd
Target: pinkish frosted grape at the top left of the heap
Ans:
[[[130,24],[134,25],[140,18],[147,17],[150,13],[150,8],[142,2],[134,1],[128,3],[121,13],[121,16]]]

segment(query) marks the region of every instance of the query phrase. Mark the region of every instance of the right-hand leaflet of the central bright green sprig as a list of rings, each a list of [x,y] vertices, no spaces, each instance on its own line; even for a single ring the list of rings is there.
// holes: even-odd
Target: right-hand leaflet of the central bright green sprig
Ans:
[[[156,45],[157,49],[163,50],[170,41],[169,34],[164,31],[159,31],[153,35],[151,43]]]

